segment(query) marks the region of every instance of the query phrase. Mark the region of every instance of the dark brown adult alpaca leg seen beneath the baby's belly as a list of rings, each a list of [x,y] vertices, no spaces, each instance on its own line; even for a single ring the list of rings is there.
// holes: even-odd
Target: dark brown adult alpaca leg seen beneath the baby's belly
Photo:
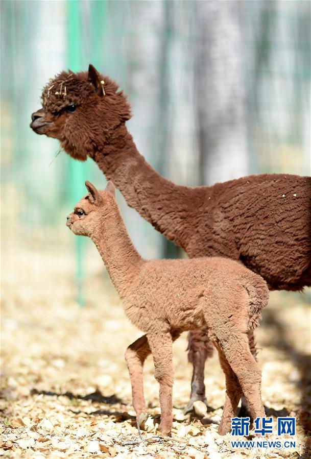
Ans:
[[[193,375],[191,381],[191,394],[184,414],[192,411],[196,400],[206,402],[204,385],[205,360],[212,356],[213,345],[207,336],[207,329],[190,331],[188,333],[188,361],[193,365]]]

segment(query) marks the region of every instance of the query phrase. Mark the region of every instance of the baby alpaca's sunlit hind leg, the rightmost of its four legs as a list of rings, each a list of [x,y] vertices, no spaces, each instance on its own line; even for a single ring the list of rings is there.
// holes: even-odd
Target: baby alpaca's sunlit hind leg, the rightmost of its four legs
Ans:
[[[251,354],[248,336],[228,329],[226,339],[219,340],[226,359],[240,382],[242,391],[249,405],[251,416],[265,417],[265,409],[261,401],[261,371]],[[224,335],[222,335],[224,336]]]

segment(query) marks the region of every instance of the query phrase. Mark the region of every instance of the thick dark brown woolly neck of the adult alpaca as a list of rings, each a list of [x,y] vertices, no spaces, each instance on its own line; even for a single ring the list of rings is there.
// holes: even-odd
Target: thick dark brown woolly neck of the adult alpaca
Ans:
[[[140,155],[124,124],[113,130],[109,142],[97,144],[90,156],[122,192],[127,204],[184,248],[187,222],[194,208],[193,189],[175,185],[159,175]]]

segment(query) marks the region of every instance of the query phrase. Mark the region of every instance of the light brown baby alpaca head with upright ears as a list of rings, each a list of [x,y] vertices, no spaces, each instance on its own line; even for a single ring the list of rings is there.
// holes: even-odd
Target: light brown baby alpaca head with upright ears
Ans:
[[[112,182],[108,182],[106,189],[99,191],[88,181],[85,186],[88,195],[75,205],[74,211],[67,216],[66,225],[78,236],[92,237],[115,204],[115,187]]]

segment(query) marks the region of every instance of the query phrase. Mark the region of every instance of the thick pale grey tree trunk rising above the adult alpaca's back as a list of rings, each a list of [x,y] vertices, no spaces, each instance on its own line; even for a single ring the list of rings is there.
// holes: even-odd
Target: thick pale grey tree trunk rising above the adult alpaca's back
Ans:
[[[195,91],[201,183],[248,173],[240,1],[196,2]]]

